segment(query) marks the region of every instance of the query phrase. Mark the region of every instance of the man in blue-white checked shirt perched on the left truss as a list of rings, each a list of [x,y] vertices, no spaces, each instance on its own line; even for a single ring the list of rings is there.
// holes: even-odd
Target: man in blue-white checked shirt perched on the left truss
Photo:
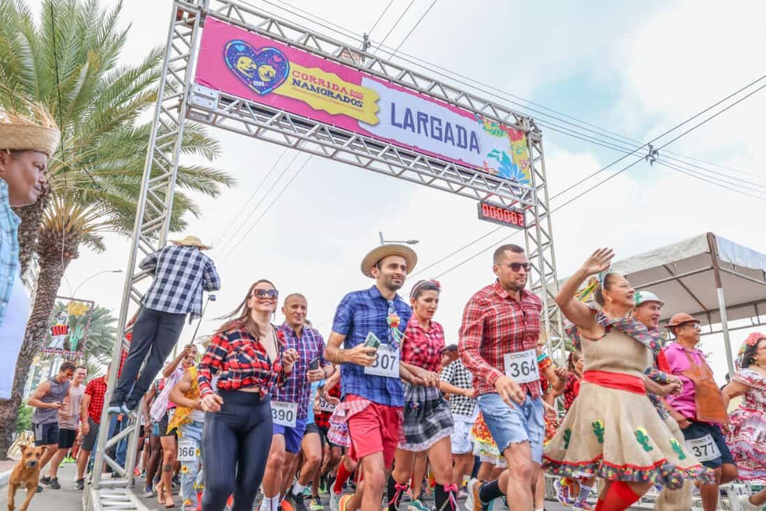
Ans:
[[[152,252],[139,264],[154,280],[133,324],[133,340],[109,404],[110,414],[129,414],[136,409],[178,342],[186,315],[189,322],[201,317],[202,292],[221,288],[213,260],[202,253],[208,249],[198,237],[186,236]],[[147,355],[146,367],[136,381]]]

